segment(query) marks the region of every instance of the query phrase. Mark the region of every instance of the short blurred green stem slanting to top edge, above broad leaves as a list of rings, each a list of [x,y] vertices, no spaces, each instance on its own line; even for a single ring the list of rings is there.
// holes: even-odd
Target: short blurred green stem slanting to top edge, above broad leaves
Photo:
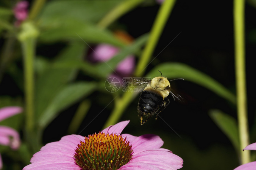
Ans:
[[[141,2],[144,0],[126,0],[116,6],[114,9],[112,9],[107,15],[105,15],[102,20],[99,21],[98,26],[101,28],[106,28],[111,23],[113,23],[116,19],[130,11],[131,9],[134,9],[136,6],[138,6]]]

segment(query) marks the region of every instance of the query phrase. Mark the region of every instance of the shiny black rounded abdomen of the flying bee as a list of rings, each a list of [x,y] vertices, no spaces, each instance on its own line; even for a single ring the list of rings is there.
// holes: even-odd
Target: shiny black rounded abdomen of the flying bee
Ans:
[[[143,91],[138,103],[138,112],[143,115],[154,114],[163,104],[163,97],[155,91]]]

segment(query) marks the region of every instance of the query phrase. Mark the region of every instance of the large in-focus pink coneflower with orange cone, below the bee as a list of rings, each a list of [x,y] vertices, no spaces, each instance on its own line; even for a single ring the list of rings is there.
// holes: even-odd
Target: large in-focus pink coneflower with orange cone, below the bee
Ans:
[[[153,134],[120,134],[129,123],[123,121],[88,137],[64,136],[46,144],[33,155],[29,169],[179,169],[183,160],[170,150],[160,148],[162,139]]]

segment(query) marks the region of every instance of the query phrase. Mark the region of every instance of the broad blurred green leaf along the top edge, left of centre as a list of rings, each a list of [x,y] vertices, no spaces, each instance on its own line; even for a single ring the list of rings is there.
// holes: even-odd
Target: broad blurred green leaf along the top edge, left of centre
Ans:
[[[120,0],[91,1],[91,0],[57,0],[48,1],[39,17],[43,26],[58,25],[63,18],[96,23],[112,8],[121,3]],[[97,12],[96,12],[97,11]]]

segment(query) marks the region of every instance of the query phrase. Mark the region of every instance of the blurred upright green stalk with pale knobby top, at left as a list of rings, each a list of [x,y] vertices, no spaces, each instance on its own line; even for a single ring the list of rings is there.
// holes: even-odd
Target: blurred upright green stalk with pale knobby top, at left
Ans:
[[[35,133],[35,112],[34,112],[34,57],[36,38],[38,31],[30,22],[21,25],[21,32],[18,39],[21,42],[24,63],[24,91],[25,91],[25,129],[26,138],[32,152],[38,151],[38,143]]]

